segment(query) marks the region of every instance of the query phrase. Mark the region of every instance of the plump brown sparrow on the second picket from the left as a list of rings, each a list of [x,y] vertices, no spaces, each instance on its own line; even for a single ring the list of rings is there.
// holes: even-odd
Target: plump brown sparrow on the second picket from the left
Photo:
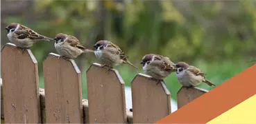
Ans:
[[[94,52],[94,50],[85,49],[85,46],[76,37],[68,34],[56,34],[54,40],[56,41],[54,47],[60,57],[64,59],[74,59],[82,53]]]

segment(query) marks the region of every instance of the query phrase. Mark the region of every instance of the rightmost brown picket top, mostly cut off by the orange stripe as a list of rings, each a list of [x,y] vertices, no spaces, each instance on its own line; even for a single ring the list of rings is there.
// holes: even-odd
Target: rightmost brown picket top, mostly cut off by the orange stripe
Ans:
[[[199,87],[181,87],[178,91],[178,109],[187,105],[194,99],[208,92],[207,90],[200,89]]]

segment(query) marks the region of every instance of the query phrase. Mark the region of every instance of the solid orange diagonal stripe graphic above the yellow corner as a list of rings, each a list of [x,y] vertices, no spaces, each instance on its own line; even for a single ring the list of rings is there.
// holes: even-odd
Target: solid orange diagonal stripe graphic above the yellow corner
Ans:
[[[157,124],[200,124],[211,121],[256,94],[256,64],[210,92],[169,114]]]

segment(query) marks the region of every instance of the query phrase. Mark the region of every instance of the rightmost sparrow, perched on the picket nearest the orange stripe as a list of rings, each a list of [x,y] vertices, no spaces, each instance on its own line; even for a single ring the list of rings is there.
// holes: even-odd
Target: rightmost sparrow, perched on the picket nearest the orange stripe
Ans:
[[[205,79],[205,72],[202,72],[192,65],[181,61],[176,63],[176,68],[176,76],[178,81],[185,87],[193,87],[199,85],[200,83],[206,83],[210,86],[214,85],[214,83],[211,83]]]

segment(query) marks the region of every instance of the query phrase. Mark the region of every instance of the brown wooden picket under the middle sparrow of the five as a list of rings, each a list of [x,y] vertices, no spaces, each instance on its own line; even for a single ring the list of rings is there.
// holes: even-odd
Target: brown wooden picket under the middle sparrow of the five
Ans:
[[[89,123],[126,123],[124,82],[117,70],[93,63],[87,70]]]

